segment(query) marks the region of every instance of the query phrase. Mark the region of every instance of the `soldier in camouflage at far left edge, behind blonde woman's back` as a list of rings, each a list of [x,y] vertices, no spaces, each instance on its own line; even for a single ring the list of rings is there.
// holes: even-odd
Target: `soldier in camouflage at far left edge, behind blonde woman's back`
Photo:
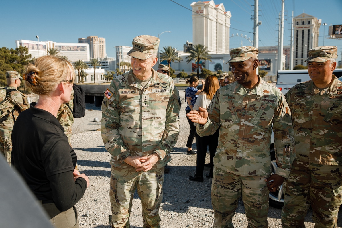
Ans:
[[[5,87],[5,90],[12,90],[10,92],[7,92],[6,98],[10,102],[12,107],[10,107],[10,114],[7,119],[0,122],[0,152],[9,164],[11,164],[11,134],[14,121],[17,118],[19,112],[29,108],[26,96],[17,90],[20,85],[21,79],[23,78],[20,76],[18,71],[6,72],[7,86]]]

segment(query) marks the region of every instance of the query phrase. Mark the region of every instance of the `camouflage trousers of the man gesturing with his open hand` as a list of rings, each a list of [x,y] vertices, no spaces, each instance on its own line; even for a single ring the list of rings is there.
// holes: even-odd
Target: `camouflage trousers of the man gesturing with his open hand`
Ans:
[[[234,228],[232,218],[242,196],[248,228],[268,227],[268,176],[238,176],[214,166],[211,204],[214,228]]]

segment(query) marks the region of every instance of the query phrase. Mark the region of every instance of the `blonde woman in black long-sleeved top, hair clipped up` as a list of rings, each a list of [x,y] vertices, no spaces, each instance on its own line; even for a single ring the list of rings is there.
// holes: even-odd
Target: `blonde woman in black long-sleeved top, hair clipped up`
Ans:
[[[60,106],[70,100],[74,67],[63,58],[42,56],[27,67],[23,79],[39,99],[20,113],[13,126],[12,167],[23,176],[55,227],[79,227],[74,205],[89,179],[75,170],[76,153],[56,118]]]

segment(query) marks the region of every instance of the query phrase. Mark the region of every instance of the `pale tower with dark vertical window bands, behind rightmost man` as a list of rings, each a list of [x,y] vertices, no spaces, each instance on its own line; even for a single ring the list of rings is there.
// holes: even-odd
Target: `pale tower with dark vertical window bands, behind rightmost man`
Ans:
[[[307,65],[310,49],[318,46],[321,19],[302,13],[293,17],[293,66]]]

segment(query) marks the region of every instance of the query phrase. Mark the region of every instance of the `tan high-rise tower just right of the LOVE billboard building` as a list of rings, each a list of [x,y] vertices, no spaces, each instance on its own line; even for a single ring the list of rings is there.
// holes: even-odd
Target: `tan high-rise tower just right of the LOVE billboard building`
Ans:
[[[79,43],[88,43],[90,47],[90,58],[106,58],[106,39],[97,36],[78,38]]]

